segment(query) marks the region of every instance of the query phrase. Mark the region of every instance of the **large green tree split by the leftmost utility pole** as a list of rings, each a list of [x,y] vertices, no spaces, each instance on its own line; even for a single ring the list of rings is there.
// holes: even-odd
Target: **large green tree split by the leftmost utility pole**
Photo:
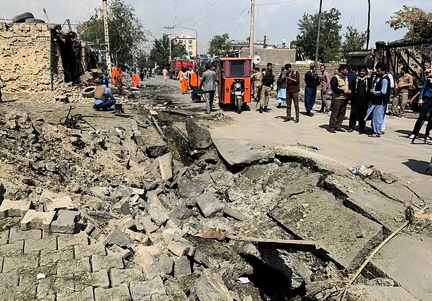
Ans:
[[[78,25],[78,36],[86,42],[104,44],[104,21],[102,8],[96,14]],[[110,33],[111,54],[116,64],[132,62],[147,32],[135,15],[135,9],[124,0],[111,0],[108,6],[108,28]]]

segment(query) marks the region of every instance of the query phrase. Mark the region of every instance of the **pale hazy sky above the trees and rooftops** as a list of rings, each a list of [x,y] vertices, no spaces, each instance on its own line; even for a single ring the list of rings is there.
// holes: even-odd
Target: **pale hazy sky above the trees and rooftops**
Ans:
[[[108,0],[110,1],[110,0]],[[204,50],[210,38],[228,32],[232,39],[243,40],[249,36],[250,0],[125,0],[135,8],[138,18],[160,37],[163,27],[176,24],[177,32],[195,36],[198,31],[199,51]],[[319,0],[256,0],[255,40],[268,37],[268,43],[280,44],[283,39],[291,41],[298,33],[297,23],[304,13],[318,11]],[[51,22],[72,23],[87,20],[102,0],[1,0],[0,18],[7,19],[19,12],[30,11],[36,18],[44,19],[45,8]],[[176,5],[177,4],[177,5]],[[394,41],[404,35],[403,30],[394,31],[385,22],[402,5],[415,5],[432,12],[431,0],[372,0],[371,45],[375,41]],[[177,7],[177,10],[176,10]],[[348,25],[366,30],[367,0],[323,0],[323,10],[337,8],[342,16],[343,29]],[[177,11],[177,13],[176,13]],[[197,13],[198,12],[198,13]],[[173,31],[173,33],[175,32]],[[342,31],[343,34],[343,31]]]

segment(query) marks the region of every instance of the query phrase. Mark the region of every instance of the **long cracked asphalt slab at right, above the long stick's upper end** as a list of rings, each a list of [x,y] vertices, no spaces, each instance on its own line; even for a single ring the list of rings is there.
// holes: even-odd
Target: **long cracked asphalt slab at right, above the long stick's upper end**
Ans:
[[[388,232],[405,222],[404,204],[386,198],[362,180],[334,174],[326,178],[324,185],[326,189],[339,190],[337,194],[343,198],[345,206],[382,224]]]

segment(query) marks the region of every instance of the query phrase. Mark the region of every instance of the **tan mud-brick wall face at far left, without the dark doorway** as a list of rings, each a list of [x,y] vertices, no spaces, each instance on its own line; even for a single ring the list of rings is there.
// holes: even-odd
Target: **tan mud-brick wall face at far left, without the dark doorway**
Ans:
[[[0,23],[0,76],[5,92],[51,90],[50,61],[53,77],[57,80],[63,74],[57,43],[50,41],[51,31],[54,27],[47,24]]]

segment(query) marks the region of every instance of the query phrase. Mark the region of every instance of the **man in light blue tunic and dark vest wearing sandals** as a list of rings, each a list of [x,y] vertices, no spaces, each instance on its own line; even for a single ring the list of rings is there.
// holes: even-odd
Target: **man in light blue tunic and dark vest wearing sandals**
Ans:
[[[377,138],[381,136],[382,125],[386,113],[386,107],[390,102],[390,79],[386,75],[387,65],[378,64],[376,66],[377,77],[374,81],[374,88],[371,89],[372,100],[369,104],[368,112],[366,113],[365,120],[372,114],[372,129],[373,134],[369,137]]]

